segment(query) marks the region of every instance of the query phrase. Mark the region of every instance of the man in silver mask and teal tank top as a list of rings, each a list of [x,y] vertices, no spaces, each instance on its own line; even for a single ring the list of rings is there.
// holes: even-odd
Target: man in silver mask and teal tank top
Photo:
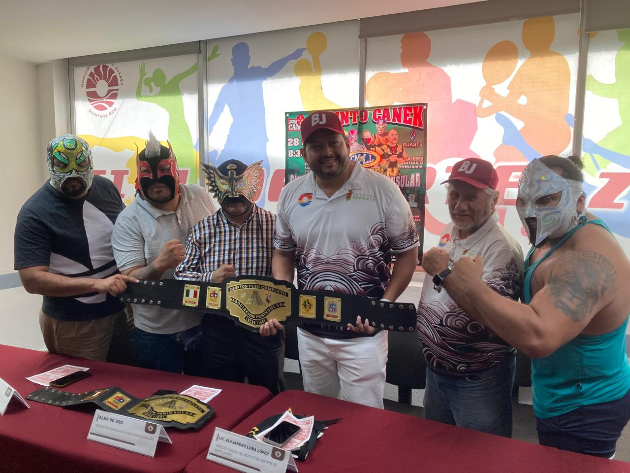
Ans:
[[[544,156],[522,173],[516,205],[534,245],[525,258],[525,304],[481,282],[480,257],[457,260],[450,277],[463,303],[532,358],[541,445],[610,458],[630,419],[630,292],[621,286],[630,262],[587,212],[582,167],[575,156]]]

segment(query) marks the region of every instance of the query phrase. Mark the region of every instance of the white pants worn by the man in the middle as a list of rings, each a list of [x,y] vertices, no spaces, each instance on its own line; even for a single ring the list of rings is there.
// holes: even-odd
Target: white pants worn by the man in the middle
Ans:
[[[298,327],[304,390],[365,406],[383,408],[387,332],[338,340]]]

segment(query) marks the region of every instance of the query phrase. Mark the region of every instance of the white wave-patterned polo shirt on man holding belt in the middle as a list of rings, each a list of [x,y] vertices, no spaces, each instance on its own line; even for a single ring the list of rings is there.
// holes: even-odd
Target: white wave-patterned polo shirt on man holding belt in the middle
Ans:
[[[295,250],[300,289],[381,298],[391,251],[418,246],[409,203],[380,173],[355,165],[332,197],[308,173],[282,189],[275,247]]]

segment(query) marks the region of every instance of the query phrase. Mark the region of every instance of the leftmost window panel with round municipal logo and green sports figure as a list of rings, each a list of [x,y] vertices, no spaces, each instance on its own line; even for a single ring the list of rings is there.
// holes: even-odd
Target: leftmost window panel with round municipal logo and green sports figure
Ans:
[[[218,55],[211,47],[207,61]],[[144,148],[149,130],[173,147],[180,182],[197,183],[197,55],[74,69],[74,108],[95,174],[112,179],[125,203],[135,194],[136,146]]]

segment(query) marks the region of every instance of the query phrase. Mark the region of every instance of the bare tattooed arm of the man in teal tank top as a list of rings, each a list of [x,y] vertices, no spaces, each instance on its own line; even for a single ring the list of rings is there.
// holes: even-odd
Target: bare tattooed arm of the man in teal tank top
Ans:
[[[575,338],[619,288],[614,265],[598,252],[559,255],[539,267],[542,288],[529,305],[497,295],[475,277],[481,268],[480,257],[463,257],[454,266],[451,283],[474,301],[498,336],[531,358],[547,356]]]

